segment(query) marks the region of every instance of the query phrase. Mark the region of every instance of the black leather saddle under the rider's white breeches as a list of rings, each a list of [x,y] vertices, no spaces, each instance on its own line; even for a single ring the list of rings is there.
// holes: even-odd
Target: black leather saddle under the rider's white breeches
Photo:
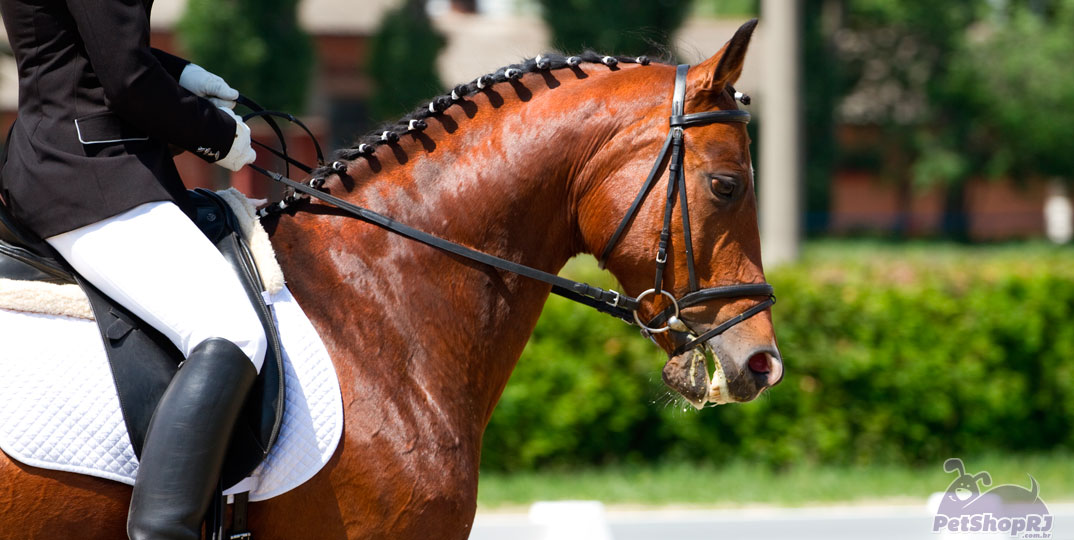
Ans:
[[[220,250],[246,288],[268,339],[261,374],[232,435],[221,485],[234,485],[264,459],[279,435],[284,417],[282,349],[272,311],[262,296],[261,278],[230,205],[206,190],[188,193],[195,223]],[[105,296],[74,272],[52,247],[19,225],[0,201],[0,278],[77,283],[89,297],[112,367],[124,421],[135,455],[141,456],[157,403],[183,362],[178,349],[160,332]],[[176,283],[176,287],[182,287]],[[205,309],[213,309],[207,305]]]

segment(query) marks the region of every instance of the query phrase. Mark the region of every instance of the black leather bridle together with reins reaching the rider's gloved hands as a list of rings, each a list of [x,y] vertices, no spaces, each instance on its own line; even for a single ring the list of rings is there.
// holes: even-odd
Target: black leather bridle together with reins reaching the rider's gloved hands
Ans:
[[[681,345],[672,351],[671,355],[682,354],[683,352],[696,349],[698,347],[703,347],[706,341],[714,336],[723,334],[731,326],[768,309],[773,304],[775,304],[775,296],[772,294],[772,286],[768,283],[742,283],[742,284],[730,284],[722,287],[711,287],[706,289],[699,289],[697,286],[697,275],[695,272],[694,264],[694,253],[693,244],[690,233],[690,214],[686,207],[686,180],[683,172],[683,156],[685,149],[683,148],[683,130],[691,126],[703,126],[708,123],[746,123],[750,121],[750,113],[746,111],[731,110],[731,111],[713,111],[708,113],[694,113],[684,114],[683,106],[686,97],[686,72],[690,69],[686,64],[681,64],[676,70],[676,81],[674,81],[674,93],[671,101],[671,117],[670,126],[667,138],[664,141],[664,147],[661,149],[659,155],[656,157],[656,162],[653,164],[652,171],[649,173],[649,178],[645,179],[644,185],[641,187],[641,191],[638,192],[637,198],[635,198],[634,203],[627,210],[626,216],[620,222],[619,228],[612,234],[611,239],[605,246],[605,249],[599,258],[601,265],[608,259],[612,249],[615,247],[619,239],[622,237],[623,233],[629,227],[634,217],[637,215],[638,209],[641,206],[642,201],[649,194],[656,179],[661,176],[663,172],[664,161],[670,155],[670,163],[668,165],[669,176],[668,176],[668,190],[667,190],[667,201],[664,208],[664,230],[661,232],[659,236],[659,247],[656,252],[656,281],[652,289],[649,289],[637,297],[632,297],[626,294],[620,293],[618,291],[609,291],[601,289],[599,287],[594,287],[589,283],[583,283],[580,281],[574,281],[564,277],[556,276],[554,274],[549,274],[547,272],[525,266],[506,259],[502,259],[496,256],[489,253],[483,253],[470,249],[466,246],[455,244],[453,242],[446,240],[444,238],[434,236],[424,231],[419,231],[409,225],[400,223],[389,217],[377,214],[367,208],[351,204],[339,198],[333,196],[320,190],[323,186],[325,178],[332,174],[345,175],[347,172],[347,164],[342,161],[336,161],[332,163],[330,172],[324,175],[314,174],[314,177],[308,181],[308,184],[302,184],[288,178],[279,173],[268,171],[256,164],[250,164],[249,166],[255,171],[272,178],[275,181],[284,184],[289,188],[293,189],[296,193],[301,195],[297,196],[309,196],[317,199],[321,202],[328,203],[335,206],[351,216],[391,231],[393,233],[400,234],[407,238],[420,242],[427,246],[454,253],[473,261],[487,264],[496,268],[505,269],[514,274],[519,274],[538,281],[543,281],[552,286],[552,292],[564,296],[568,300],[584,304],[592,308],[597,309],[604,313],[618,317],[619,319],[627,322],[628,324],[637,324],[641,327],[642,334],[647,337],[652,338],[654,334],[661,334],[664,332],[671,332],[676,334],[684,335],[688,338],[688,341]],[[293,116],[286,113],[278,113],[272,111],[264,111],[258,106],[255,102],[246,97],[241,97],[240,103],[250,107],[255,112],[244,116],[244,120],[262,117],[268,121],[276,132],[277,136],[280,137],[282,143],[284,137],[281,131],[275,126],[272,120],[273,117],[284,118],[306,130],[309,130],[302,125]],[[313,134],[309,135],[313,137]],[[323,166],[323,158],[320,152],[319,145],[316,144],[318,162]],[[294,159],[287,156],[286,147],[282,151],[277,151],[265,145],[260,145],[277,157],[284,159],[288,164],[293,164],[299,169],[307,172],[315,173],[315,171],[295,161]],[[683,222],[683,235],[686,246],[686,261],[687,268],[690,272],[690,292],[680,298],[676,298],[673,294],[663,289],[664,282],[664,272],[667,263],[667,248],[671,236],[671,214],[674,207],[676,192],[679,192],[679,199],[682,206],[682,222]],[[289,196],[289,200],[293,201],[294,196]],[[281,207],[286,207],[281,204]],[[638,309],[640,307],[641,300],[651,294],[658,294],[666,296],[671,301],[671,306],[664,309],[657,313],[654,318],[650,319],[648,322],[642,322],[640,316],[638,315]],[[687,308],[691,306],[698,305],[702,302],[719,298],[735,298],[735,297],[748,297],[748,296],[767,296],[767,298],[746,309],[745,311],[732,317],[719,324],[717,326],[702,333],[701,335],[696,335],[680,318],[680,310],[682,308]]]

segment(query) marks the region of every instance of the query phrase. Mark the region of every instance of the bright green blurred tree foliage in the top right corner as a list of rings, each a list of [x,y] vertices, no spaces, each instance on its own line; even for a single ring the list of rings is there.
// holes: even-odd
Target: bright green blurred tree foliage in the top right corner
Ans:
[[[1069,143],[1074,133],[1074,0],[1033,6],[1016,3],[977,29],[979,37],[969,40],[958,57],[950,91],[975,113],[968,143],[985,172],[1069,181],[1074,179]]]

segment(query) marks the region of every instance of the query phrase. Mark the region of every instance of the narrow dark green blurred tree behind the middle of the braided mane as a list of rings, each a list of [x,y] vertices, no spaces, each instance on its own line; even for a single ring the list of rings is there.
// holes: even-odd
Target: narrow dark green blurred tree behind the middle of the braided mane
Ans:
[[[445,43],[425,13],[423,0],[406,0],[384,15],[367,57],[375,85],[369,108],[377,120],[401,116],[444,89],[436,57]]]

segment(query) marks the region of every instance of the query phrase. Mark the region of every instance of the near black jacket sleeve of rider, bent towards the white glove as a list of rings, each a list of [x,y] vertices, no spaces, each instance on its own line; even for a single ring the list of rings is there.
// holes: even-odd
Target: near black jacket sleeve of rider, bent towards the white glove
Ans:
[[[182,88],[149,48],[142,0],[67,0],[108,108],[154,138],[206,161],[227,156],[235,121]],[[182,70],[180,70],[182,71]]]

